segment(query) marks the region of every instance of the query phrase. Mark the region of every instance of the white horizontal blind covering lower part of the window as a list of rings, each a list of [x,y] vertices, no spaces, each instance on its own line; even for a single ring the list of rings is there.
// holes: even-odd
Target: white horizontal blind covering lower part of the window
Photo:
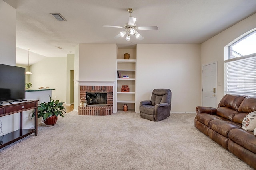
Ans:
[[[225,62],[225,92],[256,96],[256,56]]]

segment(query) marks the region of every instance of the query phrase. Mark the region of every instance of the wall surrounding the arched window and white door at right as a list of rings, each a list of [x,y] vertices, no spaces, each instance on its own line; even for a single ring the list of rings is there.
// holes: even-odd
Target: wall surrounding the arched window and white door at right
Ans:
[[[225,31],[219,33],[218,35],[212,37],[208,41],[201,44],[201,69],[203,65],[207,65],[213,62],[218,63],[217,68],[217,105],[224,96],[224,52],[225,46],[239,39],[248,31],[256,28],[256,14],[240,21],[236,25],[226,29]],[[202,73],[202,72],[200,72]],[[202,76],[202,75],[201,75]],[[201,80],[202,82],[202,80]],[[201,83],[202,89],[202,83]],[[201,104],[202,104],[202,91],[201,91]]]

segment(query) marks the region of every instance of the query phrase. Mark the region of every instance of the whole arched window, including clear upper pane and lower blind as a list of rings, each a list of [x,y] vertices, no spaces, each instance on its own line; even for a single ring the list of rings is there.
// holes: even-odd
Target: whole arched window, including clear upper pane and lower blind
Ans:
[[[255,29],[254,29],[255,30]],[[225,93],[256,96],[256,31],[229,46]]]

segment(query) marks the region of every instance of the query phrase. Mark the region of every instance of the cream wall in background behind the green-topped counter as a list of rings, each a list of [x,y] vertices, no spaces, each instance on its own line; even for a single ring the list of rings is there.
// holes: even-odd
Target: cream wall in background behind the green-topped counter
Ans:
[[[47,57],[30,66],[29,82],[32,89],[55,88],[52,99],[66,102],[67,57]]]

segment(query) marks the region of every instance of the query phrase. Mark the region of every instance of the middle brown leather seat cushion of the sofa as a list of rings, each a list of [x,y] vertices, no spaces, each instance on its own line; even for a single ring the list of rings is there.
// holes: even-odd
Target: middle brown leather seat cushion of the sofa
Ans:
[[[210,129],[218,132],[220,135],[223,135],[224,137],[228,137],[228,133],[231,129],[241,128],[239,125],[236,125],[230,121],[217,120],[217,119],[210,121],[209,127]]]

